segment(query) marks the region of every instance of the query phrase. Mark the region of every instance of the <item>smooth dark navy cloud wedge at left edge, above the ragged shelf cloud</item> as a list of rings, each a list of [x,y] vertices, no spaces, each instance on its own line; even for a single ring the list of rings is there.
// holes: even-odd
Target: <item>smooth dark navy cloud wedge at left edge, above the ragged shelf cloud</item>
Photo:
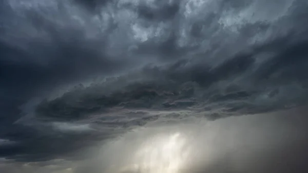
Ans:
[[[74,27],[60,32],[53,28],[57,26],[51,24],[42,24],[41,27],[44,31],[49,31],[48,41],[40,38],[20,40],[17,44],[22,44],[21,47],[2,41],[3,85],[21,87],[15,91],[27,90],[42,83],[63,83],[85,78],[90,74],[110,73],[121,69],[123,61],[119,62],[105,55],[102,41],[87,40],[84,33]],[[26,50],[22,48],[24,46],[27,47]]]

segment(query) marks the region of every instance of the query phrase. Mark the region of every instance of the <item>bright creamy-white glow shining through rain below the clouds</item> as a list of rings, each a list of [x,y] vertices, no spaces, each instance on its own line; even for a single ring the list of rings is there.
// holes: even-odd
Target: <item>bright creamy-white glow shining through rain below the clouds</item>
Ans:
[[[122,171],[177,173],[189,154],[186,144],[180,133],[152,138],[137,150],[133,156],[134,163]]]

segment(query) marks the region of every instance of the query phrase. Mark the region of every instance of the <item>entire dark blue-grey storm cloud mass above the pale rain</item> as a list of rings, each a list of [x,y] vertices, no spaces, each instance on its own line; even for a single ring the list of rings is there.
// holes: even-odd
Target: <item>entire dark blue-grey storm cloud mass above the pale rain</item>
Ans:
[[[306,104],[307,4],[292,2],[1,1],[0,157],[77,160],[152,122]]]

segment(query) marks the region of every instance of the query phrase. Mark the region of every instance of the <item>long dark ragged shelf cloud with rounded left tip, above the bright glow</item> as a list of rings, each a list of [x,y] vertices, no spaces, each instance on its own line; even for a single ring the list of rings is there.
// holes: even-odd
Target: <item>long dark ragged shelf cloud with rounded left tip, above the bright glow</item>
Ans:
[[[286,104],[304,104],[307,97],[307,81],[306,73],[303,71],[308,64],[305,58],[307,53],[303,48],[306,47],[305,42],[288,46],[281,52],[280,50],[276,52],[274,46],[272,49],[269,46],[257,47],[250,53],[228,58],[215,68],[207,67],[206,64],[189,66],[188,61],[179,61],[165,69],[146,68],[143,74],[148,81],[143,80],[134,84],[124,82],[120,91],[113,90],[109,93],[97,89],[104,90],[103,85],[80,88],[55,100],[41,103],[37,107],[37,115],[69,120],[108,112],[108,109],[116,106],[128,109],[191,110],[200,104],[213,106],[213,103],[219,103],[218,107],[230,107],[227,112],[244,109],[244,113],[260,113],[283,109]],[[266,52],[276,55],[267,59],[261,66],[257,64],[256,67],[253,57]],[[291,60],[295,52],[296,58]],[[253,68],[256,70],[252,71]],[[230,81],[235,76],[246,74],[251,79],[243,77],[244,80],[251,80],[253,86],[246,87],[241,81]],[[149,80],[150,78],[153,79]],[[121,81],[116,78],[113,82],[117,83],[118,80]],[[226,81],[228,85],[216,90],[211,89],[211,86],[217,86],[219,81]],[[283,88],[292,82],[296,82],[300,91],[294,91],[295,96],[287,96],[283,93]],[[198,92],[202,95],[198,95]],[[271,105],[256,101],[262,94],[265,94],[268,100],[272,99]]]

